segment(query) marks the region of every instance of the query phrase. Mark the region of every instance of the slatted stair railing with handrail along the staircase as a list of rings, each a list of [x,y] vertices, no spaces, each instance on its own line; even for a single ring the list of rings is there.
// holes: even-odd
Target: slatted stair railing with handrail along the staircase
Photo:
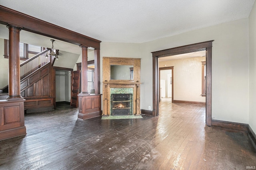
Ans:
[[[20,64],[20,80],[23,80],[28,75],[32,74],[42,66],[50,63],[50,49],[45,49],[34,57]]]

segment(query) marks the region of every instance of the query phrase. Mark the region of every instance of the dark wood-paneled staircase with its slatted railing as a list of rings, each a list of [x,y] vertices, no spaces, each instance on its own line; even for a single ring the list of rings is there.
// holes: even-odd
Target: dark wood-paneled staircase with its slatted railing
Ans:
[[[26,113],[54,109],[54,72],[55,58],[50,56],[51,49],[45,49],[20,64],[20,94],[26,99]],[[0,93],[0,100],[8,97],[8,86]]]

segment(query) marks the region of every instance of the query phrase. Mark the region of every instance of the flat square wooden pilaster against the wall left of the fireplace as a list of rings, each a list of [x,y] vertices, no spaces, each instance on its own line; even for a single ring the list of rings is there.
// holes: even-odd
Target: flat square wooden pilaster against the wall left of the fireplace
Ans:
[[[100,94],[100,50],[94,50],[94,89],[95,94]]]

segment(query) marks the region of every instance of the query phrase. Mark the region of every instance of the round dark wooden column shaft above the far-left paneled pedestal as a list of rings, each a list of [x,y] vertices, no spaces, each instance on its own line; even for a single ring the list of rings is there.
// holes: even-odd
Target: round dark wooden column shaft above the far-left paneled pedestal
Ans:
[[[7,25],[9,29],[9,96],[20,96],[20,28]]]

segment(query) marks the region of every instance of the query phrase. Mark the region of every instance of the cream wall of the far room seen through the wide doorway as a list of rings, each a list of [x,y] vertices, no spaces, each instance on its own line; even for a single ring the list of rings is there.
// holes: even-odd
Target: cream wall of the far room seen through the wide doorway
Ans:
[[[201,96],[202,61],[206,61],[206,58],[193,57],[159,63],[159,67],[174,66],[173,100],[205,102],[205,97]]]

